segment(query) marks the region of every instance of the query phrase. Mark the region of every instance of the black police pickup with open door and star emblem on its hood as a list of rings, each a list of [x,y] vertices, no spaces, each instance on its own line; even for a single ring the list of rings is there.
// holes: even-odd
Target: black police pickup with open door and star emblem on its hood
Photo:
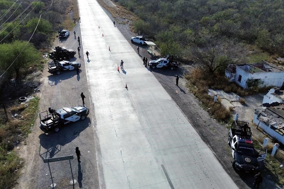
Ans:
[[[259,152],[254,149],[249,123],[233,121],[228,136],[228,144],[232,149],[233,168],[244,172],[259,170],[259,162],[266,158],[267,149]],[[261,154],[262,151],[265,153]]]

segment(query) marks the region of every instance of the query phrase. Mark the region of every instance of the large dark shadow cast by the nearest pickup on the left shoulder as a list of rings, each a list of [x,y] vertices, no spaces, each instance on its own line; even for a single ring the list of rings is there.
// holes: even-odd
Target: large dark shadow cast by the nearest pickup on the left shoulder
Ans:
[[[42,159],[52,158],[61,151],[61,147],[80,136],[80,133],[91,125],[90,118],[64,126],[58,133],[42,133],[39,138],[39,155]]]

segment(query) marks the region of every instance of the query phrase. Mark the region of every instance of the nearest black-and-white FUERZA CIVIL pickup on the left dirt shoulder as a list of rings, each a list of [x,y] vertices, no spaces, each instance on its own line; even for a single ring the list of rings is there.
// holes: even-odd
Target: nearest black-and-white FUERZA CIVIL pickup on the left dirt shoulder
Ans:
[[[62,126],[68,123],[84,120],[89,113],[89,108],[85,106],[63,107],[59,110],[49,107],[48,110],[39,114],[39,128],[45,133],[50,131],[58,132]]]

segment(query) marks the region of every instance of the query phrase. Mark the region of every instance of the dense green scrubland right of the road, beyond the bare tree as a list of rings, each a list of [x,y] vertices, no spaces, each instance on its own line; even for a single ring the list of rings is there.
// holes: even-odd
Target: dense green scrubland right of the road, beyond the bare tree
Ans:
[[[114,0],[137,14],[136,30],[155,35],[157,44],[180,52],[204,47],[212,38],[255,44],[284,53],[284,1],[281,0]]]

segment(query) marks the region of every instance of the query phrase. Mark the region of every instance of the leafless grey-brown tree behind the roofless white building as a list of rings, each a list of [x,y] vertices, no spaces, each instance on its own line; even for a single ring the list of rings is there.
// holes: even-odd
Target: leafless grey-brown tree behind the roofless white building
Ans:
[[[242,45],[234,44],[232,41],[219,41],[217,43],[215,41],[210,42],[204,48],[196,47],[191,49],[191,57],[202,71],[213,74],[217,69],[230,63],[243,62],[243,58],[247,53]]]

